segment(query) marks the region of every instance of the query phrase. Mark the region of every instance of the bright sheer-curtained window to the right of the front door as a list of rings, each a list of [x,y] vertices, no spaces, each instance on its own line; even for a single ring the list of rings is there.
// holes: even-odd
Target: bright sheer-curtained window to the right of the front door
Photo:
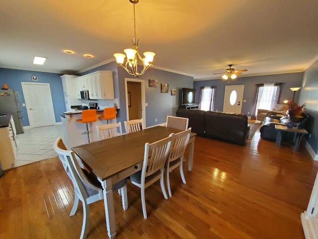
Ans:
[[[256,85],[256,97],[253,106],[252,119],[256,119],[256,110],[271,110],[279,103],[281,86],[283,83]]]

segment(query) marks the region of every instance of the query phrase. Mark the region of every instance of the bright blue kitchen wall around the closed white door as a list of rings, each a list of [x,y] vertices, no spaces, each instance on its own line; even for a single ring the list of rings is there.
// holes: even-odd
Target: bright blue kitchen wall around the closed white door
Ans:
[[[31,77],[37,76],[38,83],[49,83],[54,107],[55,121],[60,122],[60,114],[66,111],[64,103],[64,94],[62,87],[61,74],[46,73],[46,72],[34,72],[25,70],[15,70],[0,68],[0,86],[5,83],[9,89],[13,89],[19,93],[21,102],[21,112],[23,117],[23,126],[28,126],[29,119],[26,112],[26,107],[22,107],[25,103],[22,92],[21,82],[33,82]]]

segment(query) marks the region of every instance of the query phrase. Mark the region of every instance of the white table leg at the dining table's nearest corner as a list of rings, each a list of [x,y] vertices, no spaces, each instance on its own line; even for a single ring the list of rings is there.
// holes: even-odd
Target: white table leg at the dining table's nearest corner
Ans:
[[[107,235],[110,239],[114,239],[116,237],[115,209],[112,186],[111,179],[102,181],[106,228]]]

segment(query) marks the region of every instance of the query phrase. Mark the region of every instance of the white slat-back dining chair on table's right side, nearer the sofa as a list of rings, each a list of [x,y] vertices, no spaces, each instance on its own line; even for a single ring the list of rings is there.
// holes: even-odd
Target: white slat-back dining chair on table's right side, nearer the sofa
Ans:
[[[184,161],[183,154],[189,142],[190,133],[191,133],[191,128],[178,132],[178,133],[171,133],[169,135],[171,136],[171,146],[170,146],[168,158],[165,164],[166,183],[167,183],[169,197],[172,196],[169,174],[173,169],[179,167],[182,182],[186,184],[185,177],[183,174],[182,162]]]

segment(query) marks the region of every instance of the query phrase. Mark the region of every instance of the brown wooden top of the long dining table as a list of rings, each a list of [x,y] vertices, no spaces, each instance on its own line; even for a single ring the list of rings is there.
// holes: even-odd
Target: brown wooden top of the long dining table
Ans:
[[[145,143],[153,143],[181,130],[162,126],[73,147],[83,164],[101,180],[110,178],[144,159]],[[190,134],[190,137],[196,133]]]

